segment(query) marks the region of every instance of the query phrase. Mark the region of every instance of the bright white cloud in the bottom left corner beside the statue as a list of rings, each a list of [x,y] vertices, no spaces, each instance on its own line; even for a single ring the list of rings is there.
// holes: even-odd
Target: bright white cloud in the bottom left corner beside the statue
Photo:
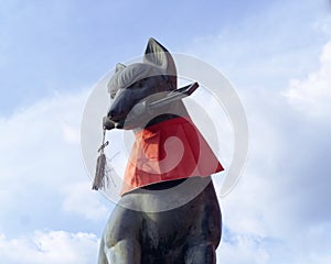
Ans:
[[[6,264],[96,263],[98,239],[90,233],[35,231],[8,239],[0,234],[0,261]]]

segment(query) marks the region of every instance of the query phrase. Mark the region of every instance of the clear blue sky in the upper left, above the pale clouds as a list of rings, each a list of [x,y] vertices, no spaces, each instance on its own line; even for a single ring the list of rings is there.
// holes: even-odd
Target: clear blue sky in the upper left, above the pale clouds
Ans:
[[[1,97],[1,111],[12,110],[12,101],[29,105],[39,95],[93,85],[116,62],[137,56],[150,36],[182,52],[194,36],[233,26],[259,2],[4,1],[1,87],[9,94]]]

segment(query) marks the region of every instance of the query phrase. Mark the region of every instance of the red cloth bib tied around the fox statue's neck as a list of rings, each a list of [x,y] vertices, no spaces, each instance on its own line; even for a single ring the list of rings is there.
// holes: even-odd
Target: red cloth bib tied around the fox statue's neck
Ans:
[[[206,177],[223,169],[192,120],[175,118],[136,133],[121,195],[147,185]]]

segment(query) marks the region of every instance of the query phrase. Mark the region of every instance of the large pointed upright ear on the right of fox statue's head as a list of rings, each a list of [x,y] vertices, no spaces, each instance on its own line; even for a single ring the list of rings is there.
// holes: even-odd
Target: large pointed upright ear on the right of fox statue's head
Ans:
[[[177,69],[171,54],[158,41],[150,37],[145,51],[143,62],[154,64],[169,76],[170,85],[177,88]]]

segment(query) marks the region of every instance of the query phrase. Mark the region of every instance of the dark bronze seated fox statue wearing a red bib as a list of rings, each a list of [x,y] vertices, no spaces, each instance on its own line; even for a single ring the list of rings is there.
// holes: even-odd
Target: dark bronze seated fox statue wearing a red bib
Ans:
[[[121,198],[102,237],[99,264],[216,263],[222,216],[211,175],[223,170],[221,163],[182,100],[139,110],[175,91],[177,82],[174,59],[154,38],[142,63],[118,64],[108,82],[105,127],[132,130],[136,141]]]

